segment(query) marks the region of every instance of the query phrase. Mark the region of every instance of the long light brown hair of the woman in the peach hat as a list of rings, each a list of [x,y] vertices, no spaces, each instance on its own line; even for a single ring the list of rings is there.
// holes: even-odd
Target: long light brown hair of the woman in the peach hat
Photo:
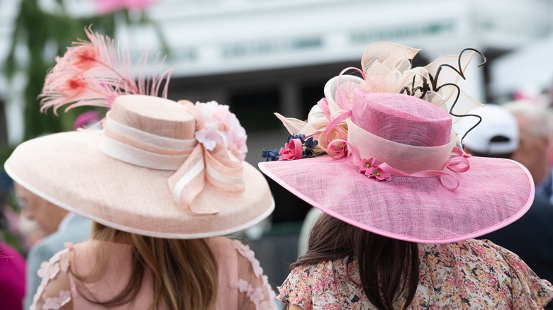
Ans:
[[[217,261],[206,239],[160,239],[93,223],[92,239],[116,241],[125,239],[132,246],[132,272],[128,284],[109,300],[99,301],[82,294],[94,304],[121,306],[135,299],[145,272],[152,273],[154,300],[152,309],[211,309],[218,291]],[[83,282],[98,280],[106,265],[107,253],[99,251],[94,270],[89,275],[74,275]],[[88,292],[90,293],[90,292]],[[88,297],[87,297],[88,295]]]

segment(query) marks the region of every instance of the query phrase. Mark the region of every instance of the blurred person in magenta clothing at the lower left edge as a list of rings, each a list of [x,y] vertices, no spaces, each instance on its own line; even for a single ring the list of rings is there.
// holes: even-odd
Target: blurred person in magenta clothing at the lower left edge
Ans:
[[[11,182],[4,171],[0,173],[0,306],[1,309],[23,309],[25,296],[25,258],[15,248],[4,241],[4,234],[9,229],[5,217],[7,198],[13,190]]]

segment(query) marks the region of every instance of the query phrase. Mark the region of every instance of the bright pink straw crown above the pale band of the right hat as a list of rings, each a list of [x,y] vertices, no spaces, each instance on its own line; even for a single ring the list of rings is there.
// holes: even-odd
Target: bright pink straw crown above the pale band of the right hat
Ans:
[[[352,122],[383,139],[417,147],[449,143],[452,118],[428,101],[398,93],[356,91]]]

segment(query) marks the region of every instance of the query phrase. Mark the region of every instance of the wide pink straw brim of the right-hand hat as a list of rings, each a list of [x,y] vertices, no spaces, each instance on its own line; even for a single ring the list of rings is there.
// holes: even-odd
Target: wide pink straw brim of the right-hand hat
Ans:
[[[472,156],[448,190],[437,176],[358,173],[349,159],[320,156],[259,163],[269,178],[332,217],[381,236],[417,243],[449,243],[502,228],[527,212],[534,183],[516,161]]]

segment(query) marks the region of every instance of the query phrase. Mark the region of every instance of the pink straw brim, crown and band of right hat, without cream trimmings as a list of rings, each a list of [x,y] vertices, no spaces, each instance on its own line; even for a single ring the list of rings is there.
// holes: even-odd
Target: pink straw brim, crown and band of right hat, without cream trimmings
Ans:
[[[328,155],[262,162],[262,172],[337,219],[417,243],[481,236],[530,208],[535,189],[527,169],[463,154],[442,108],[361,86],[344,101],[351,103],[342,114],[347,137],[328,142]]]

